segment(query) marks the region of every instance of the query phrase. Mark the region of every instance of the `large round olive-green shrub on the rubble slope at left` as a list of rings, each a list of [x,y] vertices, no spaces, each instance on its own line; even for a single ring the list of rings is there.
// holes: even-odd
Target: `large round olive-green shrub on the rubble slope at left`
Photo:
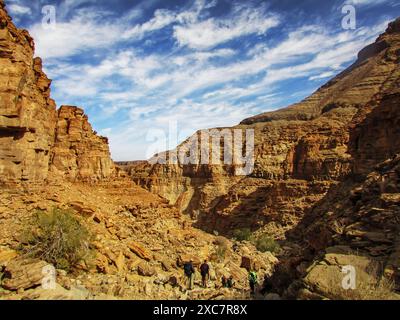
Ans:
[[[91,256],[91,235],[70,210],[38,211],[24,232],[23,249],[27,255],[70,271]]]

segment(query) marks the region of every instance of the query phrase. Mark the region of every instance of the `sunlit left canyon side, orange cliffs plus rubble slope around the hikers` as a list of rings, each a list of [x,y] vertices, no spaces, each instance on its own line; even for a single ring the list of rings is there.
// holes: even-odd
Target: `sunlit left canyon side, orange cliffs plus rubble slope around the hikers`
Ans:
[[[193,228],[135,185],[82,109],[56,109],[51,81],[33,55],[32,38],[0,0],[0,299],[248,298],[246,267],[261,276],[277,259]],[[56,288],[46,290],[47,262],[24,255],[23,235],[38,210],[53,208],[72,210],[94,235],[94,257],[72,273],[57,270]],[[199,288],[197,271],[195,290],[186,290],[182,264],[190,259],[196,268],[210,261],[208,289]],[[223,275],[235,278],[234,289],[221,288]]]

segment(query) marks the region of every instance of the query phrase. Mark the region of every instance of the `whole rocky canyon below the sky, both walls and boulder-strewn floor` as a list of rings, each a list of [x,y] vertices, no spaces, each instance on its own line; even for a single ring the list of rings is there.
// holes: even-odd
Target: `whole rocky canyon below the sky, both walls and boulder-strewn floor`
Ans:
[[[0,0],[0,299],[247,299],[250,268],[267,279],[258,299],[399,299],[400,18],[309,98],[217,129],[254,130],[248,176],[114,163],[82,108],[57,108],[34,51]],[[95,257],[46,291],[45,262],[19,248],[55,207],[91,230]],[[235,239],[247,229],[279,251]],[[183,263],[206,259],[214,284],[185,290]],[[348,265],[364,292],[341,287]],[[217,285],[230,275],[234,290]]]

